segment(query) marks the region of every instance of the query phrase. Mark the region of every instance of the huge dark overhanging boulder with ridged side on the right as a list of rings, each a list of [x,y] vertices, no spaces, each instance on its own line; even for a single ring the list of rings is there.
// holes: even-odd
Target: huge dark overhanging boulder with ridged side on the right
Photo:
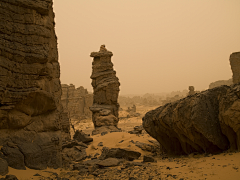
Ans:
[[[149,111],[143,127],[170,154],[240,150],[240,84],[220,86]]]

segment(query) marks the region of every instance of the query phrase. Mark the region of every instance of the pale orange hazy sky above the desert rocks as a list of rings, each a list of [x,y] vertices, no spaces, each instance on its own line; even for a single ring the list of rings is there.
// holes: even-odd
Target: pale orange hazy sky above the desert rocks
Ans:
[[[102,44],[120,94],[206,89],[240,51],[240,0],[54,0],[54,12],[61,83],[89,91]]]

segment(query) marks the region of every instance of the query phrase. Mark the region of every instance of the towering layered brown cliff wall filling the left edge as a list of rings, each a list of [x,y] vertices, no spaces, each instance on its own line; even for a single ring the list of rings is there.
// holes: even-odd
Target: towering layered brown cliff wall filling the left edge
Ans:
[[[11,152],[19,169],[61,166],[59,76],[52,0],[1,0],[0,146],[9,166]]]

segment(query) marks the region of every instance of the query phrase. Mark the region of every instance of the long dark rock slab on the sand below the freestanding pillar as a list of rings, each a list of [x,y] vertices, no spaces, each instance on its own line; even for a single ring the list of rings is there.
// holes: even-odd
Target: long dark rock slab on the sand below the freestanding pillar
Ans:
[[[132,151],[129,149],[121,149],[121,148],[107,148],[103,147],[102,154],[98,159],[104,160],[107,158],[119,158],[126,159],[129,161],[133,161],[134,159],[138,159],[141,156],[140,152]]]

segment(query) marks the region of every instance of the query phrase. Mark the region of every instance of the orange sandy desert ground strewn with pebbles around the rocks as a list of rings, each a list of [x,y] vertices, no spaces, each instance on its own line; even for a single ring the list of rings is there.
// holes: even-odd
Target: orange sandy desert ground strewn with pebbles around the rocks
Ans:
[[[93,142],[88,144],[87,155],[101,154],[103,147],[127,148],[141,153],[139,159],[128,162],[122,161],[118,166],[103,167],[95,171],[81,172],[79,170],[46,169],[46,170],[16,170],[9,168],[9,173],[19,180],[28,179],[240,179],[240,153],[225,152],[222,154],[190,154],[188,156],[167,156],[161,152],[158,142],[150,137],[145,131],[141,134],[130,134],[128,131],[142,123],[144,114],[156,107],[138,106],[138,117],[127,118],[128,112],[123,107],[119,112],[119,127],[122,132],[112,132],[105,135],[92,136]],[[75,128],[91,134],[93,123],[91,119],[75,123]],[[155,147],[155,153],[143,150],[133,142],[141,142]],[[101,145],[99,145],[99,143]],[[143,162],[144,155],[151,155],[155,162]],[[85,159],[88,161],[90,158]],[[3,176],[0,176],[3,178]]]

